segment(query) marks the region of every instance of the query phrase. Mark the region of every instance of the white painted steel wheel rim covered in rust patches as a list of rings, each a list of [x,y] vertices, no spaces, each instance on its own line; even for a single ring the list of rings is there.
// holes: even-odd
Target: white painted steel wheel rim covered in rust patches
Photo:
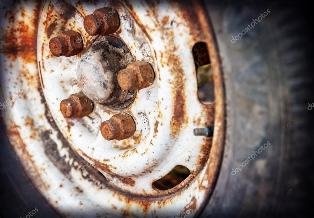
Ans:
[[[207,198],[222,152],[224,94],[206,17],[199,5],[188,5],[57,1],[2,9],[1,95],[7,106],[1,113],[25,171],[62,215],[178,217],[189,210],[192,216]],[[155,72],[153,84],[120,111],[136,126],[121,141],[100,133],[101,122],[116,110],[95,103],[88,117],[66,119],[59,109],[62,99],[81,91],[77,63],[96,39],[84,30],[84,17],[104,6],[119,14],[112,36]],[[49,41],[65,30],[78,32],[84,48],[55,57]],[[209,105],[198,101],[192,48],[199,41],[207,42],[213,66],[215,102]],[[192,135],[213,123],[213,137]],[[190,170],[186,180],[165,191],[153,187],[178,165]]]

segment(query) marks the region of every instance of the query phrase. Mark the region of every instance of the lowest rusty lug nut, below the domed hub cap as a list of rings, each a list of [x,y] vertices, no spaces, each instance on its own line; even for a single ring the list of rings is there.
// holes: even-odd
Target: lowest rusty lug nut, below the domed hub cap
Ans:
[[[130,115],[119,113],[102,122],[100,132],[106,140],[127,139],[134,134],[135,123]]]

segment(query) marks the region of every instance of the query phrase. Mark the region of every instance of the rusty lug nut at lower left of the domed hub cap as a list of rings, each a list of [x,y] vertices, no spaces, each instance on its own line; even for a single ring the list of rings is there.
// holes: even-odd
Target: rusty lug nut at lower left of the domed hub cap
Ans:
[[[93,102],[78,92],[61,101],[60,111],[65,118],[82,118],[93,111]]]

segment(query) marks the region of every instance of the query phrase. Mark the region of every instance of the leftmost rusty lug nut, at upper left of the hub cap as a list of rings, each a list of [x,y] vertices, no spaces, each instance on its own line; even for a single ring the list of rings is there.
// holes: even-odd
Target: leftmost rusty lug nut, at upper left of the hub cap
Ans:
[[[49,42],[50,52],[56,56],[70,57],[77,55],[83,49],[81,35],[72,30],[64,31]]]

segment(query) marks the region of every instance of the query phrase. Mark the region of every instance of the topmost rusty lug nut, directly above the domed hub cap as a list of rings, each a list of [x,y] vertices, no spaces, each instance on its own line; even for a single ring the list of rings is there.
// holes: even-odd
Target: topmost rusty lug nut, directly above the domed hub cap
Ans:
[[[84,18],[84,29],[89,35],[109,35],[120,25],[115,9],[99,8]]]

